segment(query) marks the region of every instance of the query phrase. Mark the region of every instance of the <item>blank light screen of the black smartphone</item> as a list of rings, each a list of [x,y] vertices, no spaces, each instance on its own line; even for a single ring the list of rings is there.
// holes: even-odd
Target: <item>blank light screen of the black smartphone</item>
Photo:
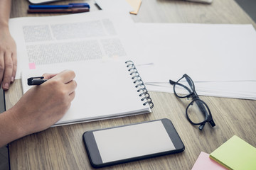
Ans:
[[[102,162],[176,149],[161,120],[93,132]]]

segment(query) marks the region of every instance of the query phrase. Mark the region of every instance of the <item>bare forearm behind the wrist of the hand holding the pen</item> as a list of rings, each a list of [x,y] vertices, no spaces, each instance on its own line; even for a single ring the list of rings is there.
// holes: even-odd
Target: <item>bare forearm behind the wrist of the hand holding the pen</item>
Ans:
[[[23,131],[13,114],[14,109],[0,113],[0,147],[23,136]]]

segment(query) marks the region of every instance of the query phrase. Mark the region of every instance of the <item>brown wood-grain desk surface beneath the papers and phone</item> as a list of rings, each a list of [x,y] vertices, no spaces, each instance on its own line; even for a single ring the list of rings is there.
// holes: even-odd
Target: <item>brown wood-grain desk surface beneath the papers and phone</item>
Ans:
[[[92,11],[97,10],[93,1],[89,3]],[[14,0],[13,4],[11,17],[32,16],[26,13],[27,1]],[[211,5],[143,0],[139,14],[132,18],[136,22],[252,23],[256,26],[233,0],[214,0]],[[6,92],[6,108],[14,106],[21,95],[21,81],[17,80]],[[150,114],[49,128],[11,142],[11,169],[92,169],[82,142],[83,132],[160,118],[169,118],[174,123],[186,147],[184,152],[104,169],[191,169],[201,151],[213,152],[233,135],[256,147],[256,101],[201,96],[213,113],[216,127],[207,124],[199,131],[186,120],[186,101],[166,93],[151,92],[151,97],[154,108]]]

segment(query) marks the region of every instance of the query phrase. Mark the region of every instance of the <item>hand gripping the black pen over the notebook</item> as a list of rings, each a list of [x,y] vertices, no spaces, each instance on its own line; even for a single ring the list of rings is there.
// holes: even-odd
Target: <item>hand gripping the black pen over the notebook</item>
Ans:
[[[24,94],[11,113],[20,136],[46,130],[63,117],[75,98],[75,73],[65,70],[59,74],[43,74],[48,79]]]

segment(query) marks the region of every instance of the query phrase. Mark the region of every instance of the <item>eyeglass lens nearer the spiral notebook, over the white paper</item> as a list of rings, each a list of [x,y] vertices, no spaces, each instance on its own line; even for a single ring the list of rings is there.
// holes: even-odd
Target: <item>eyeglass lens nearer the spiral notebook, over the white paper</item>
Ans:
[[[186,97],[193,93],[193,81],[189,77],[183,77],[177,81],[174,90],[178,97]]]

